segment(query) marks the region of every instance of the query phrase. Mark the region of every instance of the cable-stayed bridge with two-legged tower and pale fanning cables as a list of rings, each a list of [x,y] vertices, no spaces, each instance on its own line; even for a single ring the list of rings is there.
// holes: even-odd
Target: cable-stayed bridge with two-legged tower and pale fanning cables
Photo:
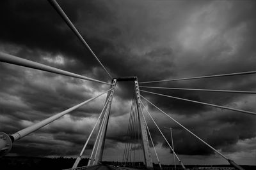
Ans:
[[[159,128],[159,125],[157,125],[156,120],[152,117],[152,113],[148,111],[147,105],[150,105],[156,110],[161,113],[165,118],[168,118],[175,122],[176,124],[180,125],[184,130],[188,131],[189,134],[194,136],[195,138],[198,139],[199,142],[204,143],[206,147],[211,148],[215,153],[220,155],[223,159],[227,160],[227,162],[234,167],[234,169],[243,169],[243,167],[239,166],[234,162],[233,160],[230,160],[226,155],[223,155],[219,150],[216,150],[214,147],[209,145],[209,143],[205,142],[203,139],[200,138],[200,136],[197,136],[195,133],[191,132],[188,128],[184,127],[184,125],[180,124],[175,118],[171,116],[170,113],[166,113],[165,111],[161,110],[157,106],[157,104],[152,103],[147,97],[144,95],[141,95],[141,92],[144,94],[152,94],[156,96],[161,96],[161,97],[166,97],[166,98],[172,98],[172,99],[177,99],[177,100],[182,100],[182,101],[188,101],[190,103],[196,103],[196,104],[203,104],[206,106],[211,106],[211,107],[216,107],[216,108],[221,108],[225,110],[232,110],[232,111],[237,111],[249,115],[256,115],[255,112],[252,111],[246,111],[246,110],[239,110],[236,108],[229,108],[227,106],[220,106],[216,104],[210,104],[210,103],[204,103],[201,101],[193,101],[191,99],[184,99],[180,97],[175,97],[175,96],[168,96],[166,94],[159,94],[156,92],[148,91],[145,89],[171,89],[171,90],[194,90],[194,91],[205,91],[205,92],[223,92],[223,93],[241,93],[241,94],[256,94],[254,91],[238,91],[238,90],[214,90],[214,89],[182,89],[182,88],[170,88],[170,87],[154,87],[154,86],[145,86],[147,83],[159,83],[159,82],[167,82],[167,81],[183,81],[183,80],[196,80],[196,79],[203,79],[203,78],[218,78],[218,77],[223,77],[223,76],[243,76],[245,74],[255,74],[256,71],[246,71],[246,72],[239,72],[239,73],[228,73],[228,74],[214,74],[214,75],[207,75],[207,76],[195,76],[195,77],[189,77],[189,78],[176,78],[176,79],[171,79],[171,80],[156,80],[156,81],[143,81],[140,82],[139,78],[136,76],[131,76],[131,77],[117,77],[113,78],[111,74],[108,72],[106,67],[103,66],[103,64],[100,62],[98,57],[95,55],[95,53],[92,51],[88,43],[84,40],[84,38],[81,36],[79,31],[77,31],[76,27],[72,24],[70,19],[67,17],[65,12],[61,9],[60,5],[55,1],[55,0],[49,0],[49,3],[52,5],[52,7],[59,13],[61,18],[66,22],[68,27],[76,34],[77,38],[83,43],[83,45],[92,53],[92,56],[99,62],[100,66],[106,74],[109,76],[109,81],[100,81],[96,80],[93,78],[89,78],[83,75],[75,74],[75,73],[70,73],[68,71],[64,71],[61,69],[57,69],[56,67],[51,67],[47,66],[45,64],[40,64],[38,62],[33,62],[31,60],[26,60],[22,59],[20,57],[10,55],[8,53],[3,53],[0,52],[0,61],[1,62],[6,62],[10,64],[15,64],[19,66],[24,66],[24,67],[30,67],[33,69],[38,69],[42,71],[47,71],[51,73],[56,73],[56,74],[61,74],[65,76],[70,76],[73,78],[79,78],[81,80],[86,80],[86,81],[94,81],[97,83],[102,83],[109,85],[109,89],[106,90],[105,92],[102,92],[101,94],[92,97],[90,99],[86,99],[86,101],[83,101],[82,103],[77,104],[76,106],[73,106],[72,108],[68,108],[65,111],[62,111],[60,113],[57,113],[56,115],[53,115],[52,117],[46,118],[45,120],[42,120],[41,122],[38,122],[36,124],[33,124],[29,127],[26,127],[25,129],[21,129],[20,131],[14,132],[13,134],[6,134],[4,132],[0,132],[0,154],[6,155],[7,153],[10,152],[12,149],[13,143],[15,141],[25,138],[28,136],[28,134],[31,134],[32,132],[37,131],[38,129],[41,129],[45,127],[45,125],[51,124],[51,122],[54,122],[54,120],[57,120],[58,118],[63,117],[64,115],[67,115],[71,111],[76,110],[77,108],[83,106],[84,104],[90,103],[94,99],[97,99],[100,96],[103,96],[104,94],[107,94],[106,96],[106,101],[104,103],[104,107],[102,108],[102,111],[100,112],[99,117],[97,118],[97,122],[93,126],[92,131],[90,132],[90,135],[86,139],[84,146],[77,155],[77,159],[74,162],[74,165],[70,167],[71,169],[172,169],[172,168],[167,168],[167,167],[162,167],[161,161],[159,160],[159,157],[156,152],[156,148],[154,145],[154,141],[152,139],[152,136],[150,134],[150,129],[148,128],[148,122],[145,119],[145,115],[147,114],[148,117],[152,120],[154,125],[156,126],[157,131],[161,136],[163,137],[164,141],[168,144],[170,150],[173,153],[173,161],[175,164],[175,160],[178,160],[179,167],[176,167],[175,164],[175,169],[186,169],[186,166],[183,164],[182,160],[179,158],[179,155],[175,152],[173,143],[169,143],[168,140],[166,139],[166,136],[164,136],[163,132]],[[105,139],[106,139],[106,132],[108,129],[108,122],[109,122],[109,115],[111,113],[111,104],[113,102],[113,96],[115,94],[115,88],[116,84],[119,81],[132,81],[134,85],[134,91],[132,92],[134,95],[132,97],[132,104],[131,104],[131,110],[130,110],[130,116],[129,116],[129,125],[127,129],[127,136],[129,136],[129,139],[127,139],[127,143],[125,144],[124,148],[124,153],[122,160],[120,161],[120,164],[118,166],[111,166],[107,164],[102,163],[102,155],[104,152],[104,144],[105,144]],[[141,90],[143,89],[143,90]],[[146,105],[147,104],[147,105]],[[98,126],[97,126],[98,125]],[[94,141],[92,153],[90,155],[90,159],[88,161],[87,166],[79,166],[79,162],[82,159],[84,150],[86,150],[86,147],[88,146],[88,142],[90,141],[93,132],[95,132],[95,129],[98,129],[96,132],[97,138]],[[172,130],[171,130],[172,132]],[[154,148],[154,153],[150,153],[150,145]],[[143,150],[143,165],[136,165],[136,160],[135,160],[135,155],[136,155],[136,148],[141,147]],[[155,154],[157,157],[158,165],[157,167],[153,167],[152,164],[152,157],[151,155]],[[68,169],[66,169],[68,170]]]

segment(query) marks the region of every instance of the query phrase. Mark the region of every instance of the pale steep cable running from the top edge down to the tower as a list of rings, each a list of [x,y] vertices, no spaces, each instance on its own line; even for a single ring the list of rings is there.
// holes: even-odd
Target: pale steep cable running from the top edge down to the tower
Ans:
[[[67,15],[65,14],[65,12],[61,9],[60,5],[55,1],[55,0],[48,0],[49,3],[52,5],[52,7],[59,13],[59,15],[61,16],[61,18],[63,18],[63,20],[66,22],[66,24],[68,25],[68,27],[70,27],[70,29],[74,32],[74,34],[76,34],[77,38],[83,43],[84,46],[86,46],[86,48],[90,51],[90,53],[92,53],[93,57],[97,60],[97,62],[99,62],[100,66],[106,71],[106,73],[108,73],[107,69],[103,66],[103,64],[100,62],[100,60],[98,59],[98,57],[95,55],[95,53],[93,52],[93,50],[90,48],[90,46],[88,45],[88,43],[86,43],[86,41],[84,40],[84,38],[81,36],[81,34],[77,31],[76,27],[74,26],[74,24],[72,24],[72,22],[70,21],[70,19],[67,17]],[[111,77],[111,79],[113,79],[113,77],[108,73],[108,75]]]

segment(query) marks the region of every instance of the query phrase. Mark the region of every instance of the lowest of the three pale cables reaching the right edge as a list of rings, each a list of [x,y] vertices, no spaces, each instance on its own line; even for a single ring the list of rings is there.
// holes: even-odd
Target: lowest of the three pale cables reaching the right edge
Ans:
[[[180,97],[167,96],[167,95],[164,95],[164,94],[149,92],[149,91],[146,91],[146,90],[140,90],[140,91],[141,92],[147,92],[147,93],[150,93],[150,94],[156,94],[158,96],[164,96],[164,97],[170,97],[170,98],[173,98],[173,99],[179,99],[179,100],[182,100],[182,101],[189,101],[189,102],[193,102],[193,103],[204,104],[204,105],[207,105],[207,106],[213,106],[213,107],[216,107],[216,108],[232,110],[232,111],[239,111],[239,112],[247,113],[247,114],[250,114],[250,115],[256,115],[256,113],[253,112],[253,111],[246,111],[246,110],[239,110],[239,109],[235,109],[235,108],[228,108],[226,106],[220,106],[220,105],[216,105],[216,104],[204,103],[204,102],[200,102],[200,101],[193,101],[193,100],[184,99],[184,98],[180,98]]]

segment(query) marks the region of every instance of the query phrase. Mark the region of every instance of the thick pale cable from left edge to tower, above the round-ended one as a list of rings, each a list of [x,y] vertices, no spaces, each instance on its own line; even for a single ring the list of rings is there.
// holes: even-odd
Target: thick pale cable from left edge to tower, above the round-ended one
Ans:
[[[30,67],[30,68],[33,68],[33,69],[40,69],[42,71],[48,71],[48,72],[51,72],[51,73],[61,74],[61,75],[65,75],[65,76],[71,76],[71,77],[74,77],[74,78],[80,78],[80,79],[83,79],[83,80],[95,81],[97,83],[104,83],[104,84],[107,84],[107,85],[111,85],[111,83],[107,83],[107,82],[100,81],[100,80],[95,80],[93,78],[88,78],[86,76],[81,76],[81,75],[75,74],[75,73],[70,73],[70,72],[64,71],[62,69],[57,69],[55,67],[46,66],[46,65],[40,64],[38,62],[33,62],[31,60],[22,59],[20,57],[16,57],[16,56],[10,55],[8,53],[0,52],[0,61],[1,62],[8,62],[10,64],[15,64],[15,65],[19,65],[19,66]]]

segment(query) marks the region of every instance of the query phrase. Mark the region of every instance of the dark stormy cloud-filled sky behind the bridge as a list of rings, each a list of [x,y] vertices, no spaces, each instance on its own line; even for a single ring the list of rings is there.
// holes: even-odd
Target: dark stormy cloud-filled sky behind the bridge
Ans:
[[[138,81],[186,78],[255,70],[255,1],[59,0],[77,30],[113,77]],[[110,81],[92,54],[47,1],[0,2],[0,51],[47,66]],[[255,90],[255,75],[147,84],[223,90]],[[109,89],[79,80],[0,62],[0,131],[13,134]],[[182,90],[152,92],[256,112],[255,94]],[[124,152],[132,82],[118,82],[111,107],[103,160]],[[141,92],[211,146],[238,164],[256,165],[256,117]],[[106,95],[13,143],[8,155],[75,157],[83,148]],[[184,164],[228,164],[198,139],[143,101]],[[170,150],[146,120],[159,159],[173,164]],[[93,139],[84,157],[92,151]],[[141,153],[142,154],[142,153]],[[151,150],[152,159],[156,156]]]

